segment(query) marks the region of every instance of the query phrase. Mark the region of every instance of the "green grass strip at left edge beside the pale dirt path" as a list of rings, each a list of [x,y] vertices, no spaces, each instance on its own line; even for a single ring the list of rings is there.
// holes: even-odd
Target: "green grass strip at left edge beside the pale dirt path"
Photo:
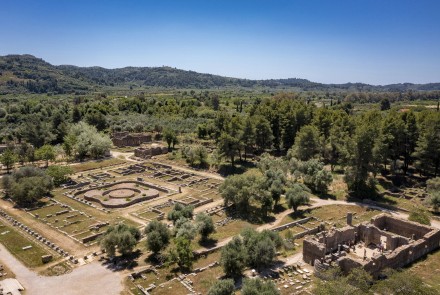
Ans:
[[[9,252],[28,267],[43,265],[43,262],[41,262],[41,256],[51,254],[41,245],[24,237],[24,235],[15,228],[2,222],[0,222],[0,243],[2,243]],[[32,246],[32,248],[23,250],[23,247],[26,246]]]

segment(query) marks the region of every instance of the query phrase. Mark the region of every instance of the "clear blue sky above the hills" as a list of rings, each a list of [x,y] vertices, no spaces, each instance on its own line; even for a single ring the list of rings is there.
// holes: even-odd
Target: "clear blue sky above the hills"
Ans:
[[[2,0],[0,55],[247,79],[440,82],[439,0]]]

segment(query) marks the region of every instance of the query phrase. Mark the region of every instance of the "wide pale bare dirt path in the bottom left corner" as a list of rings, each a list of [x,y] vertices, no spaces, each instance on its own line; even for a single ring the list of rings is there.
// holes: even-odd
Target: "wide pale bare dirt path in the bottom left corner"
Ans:
[[[62,276],[44,277],[27,269],[1,244],[0,256],[25,288],[26,295],[116,295],[123,289],[122,275],[98,262],[81,266]]]

